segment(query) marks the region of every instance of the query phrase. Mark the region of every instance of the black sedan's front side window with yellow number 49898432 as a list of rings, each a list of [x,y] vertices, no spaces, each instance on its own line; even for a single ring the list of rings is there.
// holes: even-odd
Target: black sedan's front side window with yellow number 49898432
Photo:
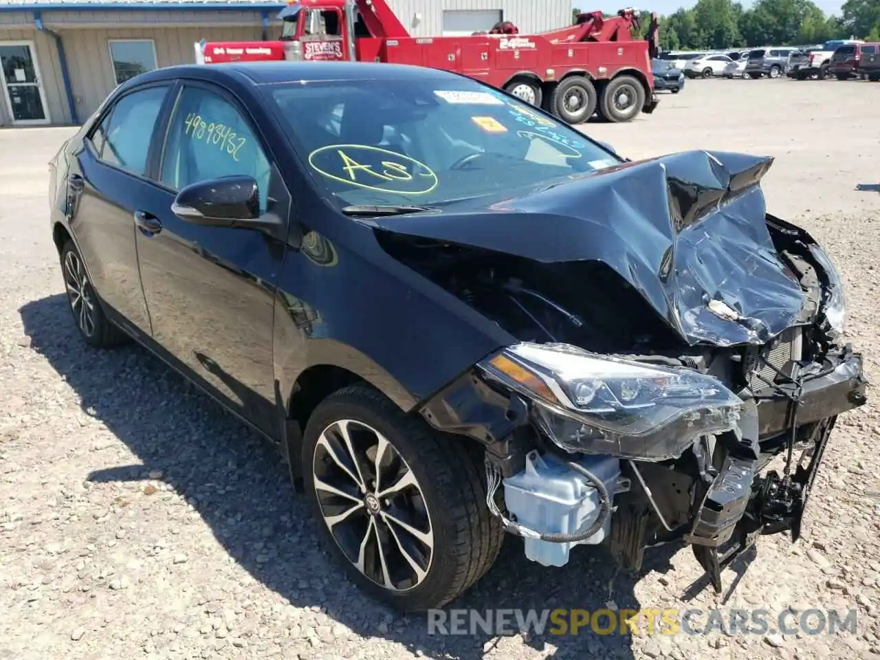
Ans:
[[[180,190],[196,181],[245,174],[268,206],[271,166],[248,122],[228,100],[200,87],[180,94],[162,157],[162,183]]]

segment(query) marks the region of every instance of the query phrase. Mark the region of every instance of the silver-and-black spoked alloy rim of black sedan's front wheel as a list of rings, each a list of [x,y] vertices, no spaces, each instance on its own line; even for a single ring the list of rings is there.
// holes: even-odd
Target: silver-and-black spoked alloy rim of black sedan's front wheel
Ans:
[[[378,430],[339,420],[324,429],[312,460],[321,517],[334,541],[370,581],[417,587],[434,555],[434,530],[415,474]]]

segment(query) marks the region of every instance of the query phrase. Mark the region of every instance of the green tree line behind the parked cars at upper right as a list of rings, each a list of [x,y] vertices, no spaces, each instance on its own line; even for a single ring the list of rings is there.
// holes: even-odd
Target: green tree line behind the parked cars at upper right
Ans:
[[[580,10],[574,10],[576,16]],[[650,12],[642,11],[642,30]],[[749,9],[733,0],[698,0],[691,9],[660,17],[662,50],[820,44],[829,39],[880,41],[880,0],[847,0],[840,16],[826,16],[811,0],[758,0]]]

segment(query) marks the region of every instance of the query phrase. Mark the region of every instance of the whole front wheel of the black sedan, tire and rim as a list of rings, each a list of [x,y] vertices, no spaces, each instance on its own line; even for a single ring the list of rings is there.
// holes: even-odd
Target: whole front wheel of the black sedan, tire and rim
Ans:
[[[342,440],[343,425],[348,443]],[[355,583],[395,609],[421,612],[445,605],[485,575],[498,556],[502,525],[486,506],[485,471],[476,444],[468,442],[431,429],[367,385],[335,392],[309,418],[304,487],[321,539]],[[345,458],[334,458],[343,452]],[[360,458],[357,464],[353,454]],[[393,485],[383,488],[383,479],[393,485],[407,480],[407,486],[385,500],[381,493]],[[334,495],[330,487],[352,495]],[[342,515],[332,532],[328,518]],[[404,518],[409,530],[397,522]],[[379,533],[384,542],[377,543]],[[405,539],[402,545],[395,535]]]

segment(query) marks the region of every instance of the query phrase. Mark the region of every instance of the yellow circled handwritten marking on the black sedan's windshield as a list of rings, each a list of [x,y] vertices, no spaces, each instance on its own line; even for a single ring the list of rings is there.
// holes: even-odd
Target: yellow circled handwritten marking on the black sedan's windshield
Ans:
[[[437,175],[415,158],[369,144],[327,144],[309,154],[309,165],[327,179],[392,194],[428,194]]]

